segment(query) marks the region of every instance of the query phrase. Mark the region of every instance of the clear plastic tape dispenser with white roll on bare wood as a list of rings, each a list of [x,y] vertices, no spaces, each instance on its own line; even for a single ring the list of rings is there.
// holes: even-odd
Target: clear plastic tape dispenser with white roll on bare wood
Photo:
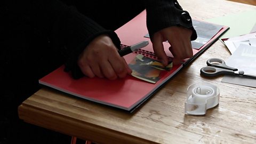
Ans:
[[[205,115],[206,110],[219,104],[219,88],[209,83],[196,83],[188,87],[185,114]]]

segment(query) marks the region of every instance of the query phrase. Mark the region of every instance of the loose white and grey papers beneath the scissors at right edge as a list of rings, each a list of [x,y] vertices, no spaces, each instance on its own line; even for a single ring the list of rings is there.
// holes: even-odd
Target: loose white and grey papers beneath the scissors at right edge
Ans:
[[[256,77],[256,33],[228,38],[224,43],[231,53],[226,64]],[[252,78],[225,76],[222,82],[256,87],[256,79]]]

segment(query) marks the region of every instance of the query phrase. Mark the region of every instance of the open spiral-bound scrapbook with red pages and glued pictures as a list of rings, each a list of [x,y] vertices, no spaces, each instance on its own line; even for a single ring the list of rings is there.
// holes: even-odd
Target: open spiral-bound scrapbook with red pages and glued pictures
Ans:
[[[209,26],[216,28],[211,37],[206,35],[209,33],[209,29],[207,30]],[[194,27],[199,38],[195,41],[197,47],[193,49],[194,56],[184,60],[179,65],[172,65],[172,54],[169,51],[170,44],[164,42],[164,49],[170,58],[170,63],[167,68],[162,67],[157,61],[151,42],[149,42],[149,45],[146,47],[124,56],[126,62],[133,70],[133,74],[125,78],[119,78],[114,81],[98,77],[73,79],[69,73],[63,71],[64,66],[61,66],[39,79],[39,84],[74,95],[75,97],[132,112],[178,73],[183,66],[188,65],[190,61],[205,51],[207,47],[228,29],[226,26],[214,25],[203,21],[196,21]],[[201,34],[198,33],[199,31],[201,31]],[[150,41],[145,36],[148,33],[146,11],[141,12],[137,17],[118,28],[116,33],[124,47],[141,41]]]

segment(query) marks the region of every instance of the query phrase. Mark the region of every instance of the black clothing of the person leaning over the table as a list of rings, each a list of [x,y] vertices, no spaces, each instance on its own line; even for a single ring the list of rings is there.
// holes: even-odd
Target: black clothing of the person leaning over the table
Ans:
[[[28,127],[20,125],[24,123],[18,121],[17,107],[39,89],[39,78],[63,63],[74,78],[81,77],[76,60],[86,45],[98,35],[108,34],[119,47],[114,30],[145,7],[150,36],[169,26],[194,30],[191,21],[181,17],[185,11],[174,0],[62,1],[5,0],[0,3],[0,143],[4,143],[2,140],[22,143],[20,139],[26,141],[27,135],[31,143],[41,140],[47,143],[43,142],[49,137],[44,137],[45,133],[24,132]],[[195,38],[194,30],[191,39]]]

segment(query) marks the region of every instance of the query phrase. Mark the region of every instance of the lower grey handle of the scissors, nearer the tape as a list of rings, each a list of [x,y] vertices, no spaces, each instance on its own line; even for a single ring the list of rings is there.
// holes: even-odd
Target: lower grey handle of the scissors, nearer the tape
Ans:
[[[211,67],[211,66],[206,66],[201,68],[200,73],[204,76],[207,77],[215,77],[219,75],[234,75],[233,70],[228,70],[228,69],[222,69],[222,68],[216,68],[216,67]]]

